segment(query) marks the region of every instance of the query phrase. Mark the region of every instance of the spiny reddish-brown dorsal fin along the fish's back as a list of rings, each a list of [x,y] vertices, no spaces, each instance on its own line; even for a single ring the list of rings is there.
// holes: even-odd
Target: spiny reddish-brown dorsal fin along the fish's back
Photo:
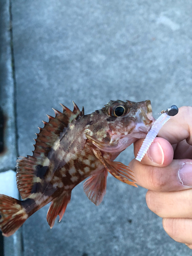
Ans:
[[[37,167],[38,169],[42,169],[40,167],[43,165],[44,160],[60,133],[68,129],[69,123],[83,116],[78,106],[75,103],[73,104],[73,111],[62,104],[62,113],[53,109],[55,117],[47,115],[49,122],[43,121],[44,127],[39,128],[39,133],[36,134],[37,138],[35,139],[36,143],[34,144],[33,156],[19,157],[17,159],[17,186],[23,199],[31,194],[33,184],[37,178]]]

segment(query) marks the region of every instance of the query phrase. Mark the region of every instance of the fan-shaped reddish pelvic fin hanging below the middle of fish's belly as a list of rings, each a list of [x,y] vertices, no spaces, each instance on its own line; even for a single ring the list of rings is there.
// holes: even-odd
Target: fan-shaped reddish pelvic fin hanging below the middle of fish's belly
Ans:
[[[106,194],[106,177],[108,176],[108,170],[105,168],[99,174],[92,175],[83,184],[84,193],[86,193],[89,200],[95,205],[99,205],[104,195]]]

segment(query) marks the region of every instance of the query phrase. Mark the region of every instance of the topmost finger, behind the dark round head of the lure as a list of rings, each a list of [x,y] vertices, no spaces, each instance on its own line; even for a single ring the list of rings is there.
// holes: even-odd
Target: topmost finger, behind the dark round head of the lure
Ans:
[[[160,132],[159,137],[162,137],[170,142],[170,144],[179,143],[182,140],[192,145],[192,107],[182,106],[179,108],[179,113],[176,116],[170,117]]]

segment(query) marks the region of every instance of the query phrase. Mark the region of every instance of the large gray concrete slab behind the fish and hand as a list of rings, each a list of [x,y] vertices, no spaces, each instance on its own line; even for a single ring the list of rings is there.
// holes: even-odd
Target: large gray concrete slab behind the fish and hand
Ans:
[[[150,99],[155,117],[191,105],[191,11],[179,0],[12,1],[19,155],[31,154],[37,126],[59,102],[72,108],[74,100],[87,114],[111,99]],[[130,147],[118,160],[132,158]],[[165,233],[145,193],[109,176],[96,207],[79,184],[52,230],[49,206],[26,221],[24,256],[190,255]]]

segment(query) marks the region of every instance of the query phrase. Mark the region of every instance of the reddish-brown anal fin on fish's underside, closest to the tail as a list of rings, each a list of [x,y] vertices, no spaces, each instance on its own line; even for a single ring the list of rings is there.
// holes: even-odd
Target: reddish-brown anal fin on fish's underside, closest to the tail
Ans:
[[[49,207],[47,212],[47,222],[50,225],[50,228],[53,227],[57,215],[59,215],[59,222],[61,221],[63,215],[65,214],[66,207],[71,200],[71,191],[65,195],[61,195],[58,198],[55,198]]]

